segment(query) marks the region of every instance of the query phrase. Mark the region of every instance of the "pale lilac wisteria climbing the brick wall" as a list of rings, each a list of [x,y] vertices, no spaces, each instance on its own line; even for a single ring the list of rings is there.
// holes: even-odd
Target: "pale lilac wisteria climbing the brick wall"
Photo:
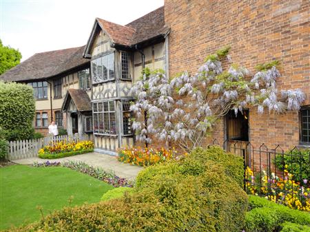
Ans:
[[[249,106],[262,114],[298,110],[304,101],[300,89],[282,90],[278,101],[276,78],[278,61],[257,65],[258,72],[231,64],[223,71],[222,61],[231,63],[229,47],[211,54],[193,76],[187,72],[169,80],[164,72],[145,70],[132,87],[136,102],[131,106],[136,118],[147,113],[146,120],[134,119],[136,140],[152,143],[152,137],[176,143],[185,151],[201,147],[216,121],[230,109],[242,113]]]

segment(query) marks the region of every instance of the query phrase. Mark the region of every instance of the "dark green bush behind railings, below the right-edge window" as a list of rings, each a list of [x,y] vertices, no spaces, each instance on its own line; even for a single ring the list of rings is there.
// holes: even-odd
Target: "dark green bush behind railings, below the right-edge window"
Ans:
[[[302,183],[304,179],[310,180],[309,160],[310,149],[293,149],[284,156],[277,156],[276,166],[282,171],[287,169],[289,173],[293,174],[293,180]],[[285,165],[287,165],[287,168],[285,168]]]

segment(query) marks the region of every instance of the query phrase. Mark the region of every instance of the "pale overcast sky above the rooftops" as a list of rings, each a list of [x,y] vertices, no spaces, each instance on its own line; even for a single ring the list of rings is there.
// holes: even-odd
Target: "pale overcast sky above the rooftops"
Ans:
[[[24,61],[36,52],[87,43],[94,19],[125,25],[163,6],[163,0],[0,0],[0,39]]]

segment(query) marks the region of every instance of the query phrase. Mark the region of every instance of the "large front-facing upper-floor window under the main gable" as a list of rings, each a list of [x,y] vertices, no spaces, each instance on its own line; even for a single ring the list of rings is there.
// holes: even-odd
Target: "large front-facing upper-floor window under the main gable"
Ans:
[[[110,59],[108,56],[112,56],[113,57],[113,78],[110,78],[110,70],[107,68],[107,78],[104,77],[103,74],[103,70],[104,70],[104,65],[103,65],[103,60],[106,58],[107,59],[107,67],[110,67]],[[101,61],[101,67],[102,67],[102,79],[99,78],[99,74],[98,74],[98,61]],[[96,64],[96,67],[94,67],[94,63]],[[116,80],[116,74],[115,74],[115,52],[106,52],[105,54],[101,55],[101,56],[97,56],[96,58],[92,59],[92,61],[90,61],[90,69],[91,69],[91,78],[92,78],[92,84],[93,85],[97,85],[100,83],[105,83],[105,82],[109,82],[109,81],[115,81]],[[96,76],[96,80],[94,80],[94,76]],[[99,81],[98,81],[99,80]]]

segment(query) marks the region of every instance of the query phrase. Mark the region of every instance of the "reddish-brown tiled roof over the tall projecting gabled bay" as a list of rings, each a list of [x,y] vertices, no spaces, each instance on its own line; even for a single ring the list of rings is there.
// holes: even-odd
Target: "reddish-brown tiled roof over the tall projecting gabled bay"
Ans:
[[[87,41],[83,56],[90,58],[90,50],[96,39],[96,35],[103,30],[110,37],[112,47],[122,45],[133,48],[134,45],[154,39],[158,36],[165,36],[169,33],[169,28],[165,25],[164,7],[158,8],[145,16],[128,23],[119,25],[96,18],[92,33]]]

